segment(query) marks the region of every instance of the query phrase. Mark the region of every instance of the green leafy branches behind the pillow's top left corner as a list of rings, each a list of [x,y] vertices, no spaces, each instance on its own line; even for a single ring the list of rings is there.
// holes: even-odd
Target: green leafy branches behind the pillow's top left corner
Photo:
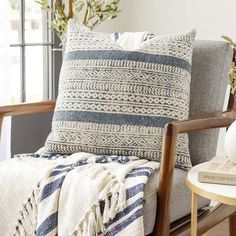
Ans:
[[[120,12],[120,0],[54,0],[48,4],[48,0],[36,0],[43,11],[52,13],[50,26],[62,44],[66,41],[67,23],[70,18],[81,21],[85,26],[94,29],[102,22],[114,19]]]

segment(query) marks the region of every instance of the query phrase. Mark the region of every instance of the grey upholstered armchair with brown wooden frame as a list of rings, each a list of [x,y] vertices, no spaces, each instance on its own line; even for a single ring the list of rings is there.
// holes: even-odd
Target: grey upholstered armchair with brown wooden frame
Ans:
[[[155,236],[189,235],[189,217],[185,216],[190,213],[190,193],[187,193],[185,189],[184,171],[181,173],[180,180],[175,181],[175,173],[178,173],[178,170],[174,167],[176,140],[178,134],[190,133],[190,153],[193,164],[213,157],[216,150],[218,132],[211,130],[211,133],[206,133],[205,131],[204,133],[199,133],[198,131],[228,127],[236,119],[236,103],[226,112],[213,113],[223,108],[226,77],[231,58],[232,50],[226,43],[197,41],[195,44],[190,99],[190,116],[194,117],[185,121],[172,122],[165,126],[161,169],[160,173],[155,176],[156,185],[152,186],[152,189],[156,189],[157,192],[158,207],[157,210],[154,208],[156,213],[155,227],[150,223],[152,221],[150,220],[149,225],[147,223],[148,226],[146,226],[148,227],[146,229],[147,234],[153,232],[151,235]],[[55,101],[45,101],[0,107],[0,131],[2,120],[5,116],[52,111],[54,106]],[[210,114],[208,115],[196,116],[196,114],[209,112]],[[178,202],[184,201],[183,209],[180,212],[174,206],[173,200],[176,197],[173,194],[173,188],[176,188],[176,184],[181,185],[181,188],[184,189],[184,193],[181,196],[177,196]],[[186,196],[183,196],[183,194]],[[149,204],[148,201],[146,201],[146,204]],[[200,206],[203,207],[208,204],[209,202],[203,200]],[[198,234],[201,235],[229,216],[231,216],[230,222],[234,221],[236,218],[233,214],[234,211],[232,207],[225,205],[201,211]],[[150,215],[152,214],[150,213]],[[144,213],[145,217],[148,217],[147,213],[146,216]],[[235,235],[233,227],[231,229],[232,235]]]

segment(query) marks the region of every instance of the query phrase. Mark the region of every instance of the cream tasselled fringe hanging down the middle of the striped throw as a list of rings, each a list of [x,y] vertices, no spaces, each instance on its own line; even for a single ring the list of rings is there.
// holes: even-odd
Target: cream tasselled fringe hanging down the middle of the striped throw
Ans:
[[[86,212],[84,218],[74,230],[73,236],[98,236],[100,232],[105,231],[105,224],[126,206],[125,185],[104,166],[99,169],[100,171],[96,167],[94,171],[89,171],[91,178],[100,178],[101,180],[102,190],[99,199]],[[104,202],[103,213],[101,213],[100,202]]]

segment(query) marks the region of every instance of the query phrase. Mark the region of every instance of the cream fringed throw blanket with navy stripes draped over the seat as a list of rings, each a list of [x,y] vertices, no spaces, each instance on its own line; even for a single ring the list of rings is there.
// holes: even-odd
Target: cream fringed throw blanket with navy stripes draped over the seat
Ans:
[[[1,189],[23,189],[13,196],[7,190],[8,202],[15,201],[8,208],[0,203],[0,235],[144,235],[144,187],[157,162],[88,153],[64,157],[20,155],[1,164],[11,170],[0,172]],[[5,211],[12,214],[4,220]]]

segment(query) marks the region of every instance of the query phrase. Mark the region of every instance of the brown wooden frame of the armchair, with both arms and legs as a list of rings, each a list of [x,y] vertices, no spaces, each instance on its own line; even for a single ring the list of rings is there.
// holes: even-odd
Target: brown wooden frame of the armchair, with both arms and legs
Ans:
[[[235,55],[234,55],[235,58]],[[175,149],[176,139],[180,133],[196,132],[200,130],[228,127],[236,120],[236,99],[232,102],[231,96],[231,109],[226,112],[208,114],[204,116],[198,116],[183,121],[177,121],[169,123],[165,126],[162,159],[160,167],[160,178],[157,183],[157,215],[156,224],[153,232],[154,236],[167,236],[170,235],[170,200],[173,184],[173,174],[175,166]],[[49,112],[53,111],[55,107],[55,101],[44,101],[38,103],[26,103],[19,105],[10,105],[0,107],[0,134],[2,128],[3,118],[5,116],[17,116],[32,114],[37,112]],[[0,136],[1,137],[1,136]],[[232,235],[236,235],[236,230],[233,222],[236,222],[235,209],[227,205],[220,205],[212,212],[199,217],[198,235],[206,232],[214,225],[223,221],[230,216],[230,232]],[[219,214],[218,214],[219,213]],[[177,235],[189,235],[189,225],[183,225],[182,229],[177,228],[172,231],[171,234]]]

